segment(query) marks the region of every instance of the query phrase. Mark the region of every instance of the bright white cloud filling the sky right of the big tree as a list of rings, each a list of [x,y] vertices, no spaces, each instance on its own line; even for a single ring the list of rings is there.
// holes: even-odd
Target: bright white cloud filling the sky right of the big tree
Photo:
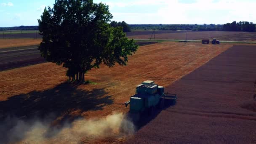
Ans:
[[[155,5],[156,11],[153,13],[112,13],[114,20],[124,20],[129,24],[224,24],[232,21],[256,23],[256,0],[196,0],[195,3],[179,3],[179,0],[108,1],[103,3],[109,5],[110,12],[115,7],[125,9],[127,6]]]

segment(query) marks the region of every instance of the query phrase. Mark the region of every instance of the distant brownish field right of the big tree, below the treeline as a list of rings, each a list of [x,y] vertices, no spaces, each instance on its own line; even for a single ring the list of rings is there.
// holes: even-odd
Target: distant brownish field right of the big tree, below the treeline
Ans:
[[[152,32],[128,32],[128,37],[133,39],[150,39]],[[222,41],[256,41],[255,32],[224,32],[224,31],[188,31],[187,40],[202,40],[216,38]],[[186,40],[184,31],[156,31],[156,40]]]

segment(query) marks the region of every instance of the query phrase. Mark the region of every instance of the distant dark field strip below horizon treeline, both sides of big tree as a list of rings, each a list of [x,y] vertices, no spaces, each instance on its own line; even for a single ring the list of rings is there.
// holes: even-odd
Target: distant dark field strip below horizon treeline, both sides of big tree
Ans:
[[[150,39],[152,30],[134,30],[126,33],[128,38],[133,39]],[[202,40],[204,38],[221,41],[256,41],[256,32],[225,32],[225,31],[171,31],[157,30],[155,31],[156,40]],[[38,31],[0,31],[0,39],[6,38],[42,38]],[[151,37],[154,39],[154,35]]]

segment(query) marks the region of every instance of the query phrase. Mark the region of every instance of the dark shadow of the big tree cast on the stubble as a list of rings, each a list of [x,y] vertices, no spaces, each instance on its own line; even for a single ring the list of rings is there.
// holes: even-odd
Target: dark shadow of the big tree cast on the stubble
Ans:
[[[77,86],[62,83],[52,89],[19,94],[0,101],[0,143],[19,141],[35,121],[49,124],[51,131],[51,128],[60,129],[72,123],[85,111],[101,110],[113,104],[112,96],[106,96],[108,93],[104,88],[85,91],[77,89]],[[17,130],[16,127],[21,128]],[[15,139],[10,137],[17,133],[19,136]]]

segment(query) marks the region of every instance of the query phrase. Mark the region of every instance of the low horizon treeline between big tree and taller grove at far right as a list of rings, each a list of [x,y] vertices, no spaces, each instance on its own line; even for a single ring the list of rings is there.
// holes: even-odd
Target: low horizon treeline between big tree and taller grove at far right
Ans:
[[[193,30],[213,31],[223,30],[221,24],[129,24],[131,29],[157,29],[157,30]]]

